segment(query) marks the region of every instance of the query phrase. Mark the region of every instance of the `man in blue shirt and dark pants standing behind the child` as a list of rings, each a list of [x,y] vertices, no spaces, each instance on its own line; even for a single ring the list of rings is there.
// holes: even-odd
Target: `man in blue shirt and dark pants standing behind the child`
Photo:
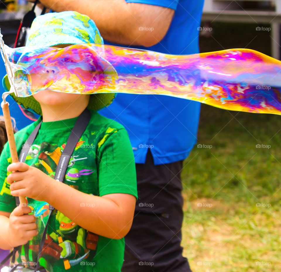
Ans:
[[[168,54],[198,53],[203,0],[41,0],[54,11],[75,10],[93,19],[105,43]],[[101,111],[123,124],[133,146],[138,195],[126,236],[122,271],[190,271],[182,256],[182,161],[198,127],[200,105],[184,99],[118,94]],[[110,258],[110,256],[109,256]]]

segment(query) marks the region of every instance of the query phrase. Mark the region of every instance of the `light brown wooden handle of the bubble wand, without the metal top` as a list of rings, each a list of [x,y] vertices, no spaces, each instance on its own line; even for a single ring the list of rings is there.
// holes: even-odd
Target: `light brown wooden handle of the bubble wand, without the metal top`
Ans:
[[[8,142],[9,142],[12,162],[17,163],[18,162],[18,152],[17,152],[17,148],[16,148],[14,130],[13,130],[13,125],[12,125],[12,120],[11,120],[11,115],[10,115],[10,110],[9,110],[9,103],[3,102],[2,109],[3,109],[4,121],[5,121],[7,136],[8,136]],[[25,197],[19,197],[19,199],[20,199],[20,204],[26,204]]]

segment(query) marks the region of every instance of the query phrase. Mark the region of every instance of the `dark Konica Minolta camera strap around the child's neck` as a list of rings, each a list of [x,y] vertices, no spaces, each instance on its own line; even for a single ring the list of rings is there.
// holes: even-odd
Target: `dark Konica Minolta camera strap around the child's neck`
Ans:
[[[85,131],[86,127],[89,124],[91,118],[91,113],[88,109],[85,109],[79,116],[78,119],[76,120],[76,123],[73,127],[73,129],[71,130],[71,133],[68,137],[68,140],[66,142],[66,146],[60,156],[59,159],[59,163],[56,167],[56,172],[55,172],[55,180],[59,181],[59,182],[63,182],[64,180],[64,175],[66,172],[66,168],[68,167],[68,162],[71,158],[71,155],[74,151],[74,148],[76,147],[80,137],[82,136],[83,132]],[[20,152],[20,156],[19,156],[19,161],[20,162],[24,162],[25,158],[28,154],[28,151],[31,147],[31,145],[33,144],[38,131],[40,129],[42,121],[35,127],[35,129],[32,131],[32,133],[30,134],[30,136],[28,137],[28,139],[26,140],[21,152]],[[19,198],[16,197],[16,204],[17,206],[19,205]],[[48,219],[47,219],[47,223],[46,223],[46,227],[44,229],[43,232],[43,236],[40,242],[40,246],[39,246],[39,254],[37,256],[37,263],[36,263],[36,268],[34,270],[37,271],[39,268],[39,259],[43,250],[43,246],[44,246],[44,241],[46,239],[46,234],[47,234],[47,227],[48,227],[48,222],[50,219],[50,215],[52,213],[52,211],[54,210],[54,207],[52,205],[49,205],[49,215],[48,215]],[[18,247],[14,248],[13,250],[13,257],[11,262],[14,263],[15,261],[15,255],[16,255],[16,251],[18,250]],[[13,271],[13,270],[11,270]]]

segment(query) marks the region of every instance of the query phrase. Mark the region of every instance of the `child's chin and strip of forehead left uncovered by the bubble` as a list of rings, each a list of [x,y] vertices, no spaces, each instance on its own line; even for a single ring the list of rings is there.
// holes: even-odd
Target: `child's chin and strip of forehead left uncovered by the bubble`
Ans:
[[[53,45],[55,48],[64,48],[70,46],[72,44],[58,44]],[[49,106],[62,106],[65,104],[69,104],[69,106],[74,107],[76,102],[80,102],[81,100],[90,99],[90,95],[88,94],[68,94],[64,92],[54,92],[49,90],[43,90],[34,94],[33,97],[39,102],[40,105],[45,104]]]

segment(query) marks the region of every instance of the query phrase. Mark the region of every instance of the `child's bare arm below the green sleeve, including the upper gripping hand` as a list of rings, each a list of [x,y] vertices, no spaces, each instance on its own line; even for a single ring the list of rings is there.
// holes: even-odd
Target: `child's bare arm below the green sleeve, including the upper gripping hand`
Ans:
[[[131,228],[136,204],[134,195],[88,195],[25,163],[12,163],[8,169],[18,171],[7,178],[13,196],[46,201],[84,229],[108,238],[121,239]]]

